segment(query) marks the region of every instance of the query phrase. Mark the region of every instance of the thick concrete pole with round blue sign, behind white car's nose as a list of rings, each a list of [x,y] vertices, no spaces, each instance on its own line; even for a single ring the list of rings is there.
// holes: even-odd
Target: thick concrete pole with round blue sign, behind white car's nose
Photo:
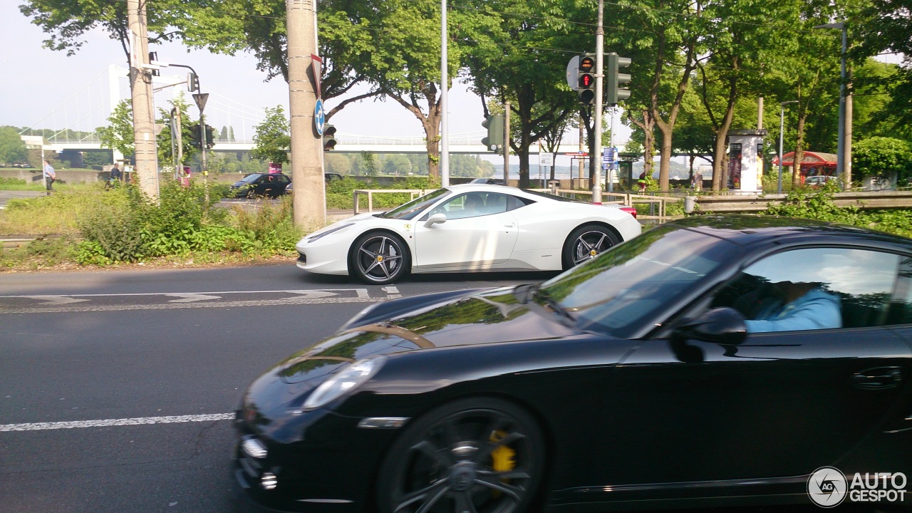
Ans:
[[[285,0],[288,32],[288,107],[291,116],[291,180],[295,225],[326,225],[326,182],[323,179],[323,140],[316,131],[316,83],[307,76],[316,55],[315,0]],[[320,103],[322,105],[322,102]]]

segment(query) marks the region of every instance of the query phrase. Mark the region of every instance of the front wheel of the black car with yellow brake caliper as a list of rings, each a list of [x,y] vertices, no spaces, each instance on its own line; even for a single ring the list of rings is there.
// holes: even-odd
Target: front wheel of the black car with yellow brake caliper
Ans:
[[[409,424],[380,473],[382,513],[519,513],[544,471],[544,439],[511,403],[467,399]]]

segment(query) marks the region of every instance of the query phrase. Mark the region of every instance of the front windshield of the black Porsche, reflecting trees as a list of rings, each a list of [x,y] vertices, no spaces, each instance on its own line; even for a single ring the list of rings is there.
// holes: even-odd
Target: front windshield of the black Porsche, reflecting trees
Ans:
[[[627,338],[727,261],[735,246],[678,226],[658,226],[545,282],[577,327]]]

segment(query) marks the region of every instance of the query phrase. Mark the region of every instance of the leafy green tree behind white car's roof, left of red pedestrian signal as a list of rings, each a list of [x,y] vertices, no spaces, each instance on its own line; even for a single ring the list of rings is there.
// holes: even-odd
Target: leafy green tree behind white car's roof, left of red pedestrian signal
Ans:
[[[510,101],[511,148],[519,157],[519,186],[528,187],[529,148],[565,126],[577,109],[565,69],[569,55],[595,40],[594,4],[467,0],[464,8],[461,33],[455,37],[469,45],[463,50],[465,73],[482,96],[483,115],[493,110],[484,98],[496,99],[497,108]]]

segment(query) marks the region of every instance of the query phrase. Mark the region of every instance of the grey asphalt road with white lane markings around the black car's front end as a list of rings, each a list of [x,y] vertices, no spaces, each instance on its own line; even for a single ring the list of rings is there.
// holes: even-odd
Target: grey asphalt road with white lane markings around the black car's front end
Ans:
[[[553,275],[0,274],[0,513],[244,510],[228,419],[261,372],[373,301]]]

